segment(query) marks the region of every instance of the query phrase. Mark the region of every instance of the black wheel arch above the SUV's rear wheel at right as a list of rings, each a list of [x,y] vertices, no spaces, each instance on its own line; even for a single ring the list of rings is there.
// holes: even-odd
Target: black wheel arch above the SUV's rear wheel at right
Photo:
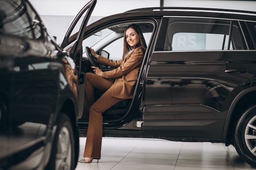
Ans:
[[[256,103],[256,86],[247,88],[239,93],[231,103],[227,112],[227,117],[223,129],[222,138],[225,139],[226,146],[233,144],[233,130],[237,119],[248,106]]]

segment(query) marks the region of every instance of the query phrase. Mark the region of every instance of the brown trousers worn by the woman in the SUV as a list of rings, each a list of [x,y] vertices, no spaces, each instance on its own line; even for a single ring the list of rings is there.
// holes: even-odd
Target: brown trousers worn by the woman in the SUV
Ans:
[[[85,74],[85,100],[84,114],[89,113],[89,125],[83,157],[101,158],[101,141],[103,117],[102,113],[116,103],[124,100],[112,97],[114,82],[94,73]],[[94,87],[106,91],[96,102],[94,102]]]

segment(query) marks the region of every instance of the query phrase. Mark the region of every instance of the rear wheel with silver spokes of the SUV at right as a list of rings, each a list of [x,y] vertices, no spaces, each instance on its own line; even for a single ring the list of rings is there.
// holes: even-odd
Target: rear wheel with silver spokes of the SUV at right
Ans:
[[[247,108],[234,129],[234,147],[247,163],[256,166],[256,105]]]

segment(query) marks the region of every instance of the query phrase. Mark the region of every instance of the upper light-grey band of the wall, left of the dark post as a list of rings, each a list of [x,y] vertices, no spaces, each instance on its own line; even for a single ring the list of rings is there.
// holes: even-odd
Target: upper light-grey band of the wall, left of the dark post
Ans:
[[[29,0],[39,15],[74,16],[89,0]],[[131,9],[159,7],[160,0],[97,0],[92,16],[108,16]]]

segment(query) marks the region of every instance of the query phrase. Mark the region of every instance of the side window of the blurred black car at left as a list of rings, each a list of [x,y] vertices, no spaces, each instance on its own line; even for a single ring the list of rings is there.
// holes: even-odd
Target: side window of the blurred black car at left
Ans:
[[[24,2],[1,2],[0,33],[38,39],[41,37],[39,20],[34,11],[28,5],[20,5],[22,3]]]

